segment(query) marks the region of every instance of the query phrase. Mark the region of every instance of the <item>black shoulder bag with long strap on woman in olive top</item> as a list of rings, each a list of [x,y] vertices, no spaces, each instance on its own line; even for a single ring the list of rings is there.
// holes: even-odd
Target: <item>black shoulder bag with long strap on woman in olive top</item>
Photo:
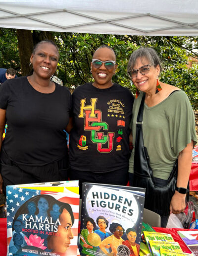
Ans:
[[[175,162],[173,170],[167,180],[167,185],[157,187],[149,163],[147,148],[143,140],[143,111],[144,111],[145,93],[143,95],[138,118],[136,122],[136,142],[134,153],[134,179],[133,186],[146,189],[145,208],[157,211],[161,216],[167,216],[170,213],[170,201],[175,193],[177,183],[178,160]]]

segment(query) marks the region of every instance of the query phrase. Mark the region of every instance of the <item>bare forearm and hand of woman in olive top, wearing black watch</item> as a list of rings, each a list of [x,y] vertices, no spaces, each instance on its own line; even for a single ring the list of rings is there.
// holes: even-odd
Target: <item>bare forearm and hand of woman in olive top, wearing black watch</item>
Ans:
[[[187,188],[192,165],[193,140],[179,153],[177,187]],[[170,213],[178,214],[186,208],[186,194],[175,191],[170,202]]]

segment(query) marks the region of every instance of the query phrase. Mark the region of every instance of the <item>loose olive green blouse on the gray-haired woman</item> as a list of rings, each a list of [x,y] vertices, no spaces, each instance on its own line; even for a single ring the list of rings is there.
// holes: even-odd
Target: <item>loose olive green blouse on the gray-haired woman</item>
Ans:
[[[131,121],[133,145],[135,145],[136,120],[142,96],[141,92],[133,105]],[[194,140],[194,144],[197,142],[194,113],[184,91],[175,91],[165,100],[150,108],[145,103],[143,138],[153,176],[167,180],[179,153],[191,140]],[[133,173],[134,149],[129,160],[130,173]]]

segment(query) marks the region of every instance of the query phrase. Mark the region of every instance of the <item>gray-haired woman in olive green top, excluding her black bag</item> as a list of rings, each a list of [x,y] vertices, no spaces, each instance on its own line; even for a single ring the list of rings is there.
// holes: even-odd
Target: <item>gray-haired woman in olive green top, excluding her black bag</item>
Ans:
[[[197,140],[195,118],[185,92],[159,81],[161,70],[159,57],[151,48],[139,48],[130,57],[127,71],[137,88],[131,123],[132,141],[135,146],[136,121],[145,94],[144,146],[147,147],[150,167],[158,187],[167,186],[167,179],[178,159],[177,191],[170,201],[170,213],[178,214],[186,207],[192,150]],[[129,165],[130,185],[133,184],[134,152],[135,147]],[[152,194],[149,196],[152,197]],[[166,226],[169,215],[163,216],[160,209],[155,211],[161,215],[161,225]]]

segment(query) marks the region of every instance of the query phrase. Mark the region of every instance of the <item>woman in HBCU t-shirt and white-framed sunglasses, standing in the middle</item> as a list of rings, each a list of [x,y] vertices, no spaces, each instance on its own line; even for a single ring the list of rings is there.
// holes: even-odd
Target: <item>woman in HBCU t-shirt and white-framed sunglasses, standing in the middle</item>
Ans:
[[[129,123],[134,97],[112,82],[117,64],[112,48],[103,45],[93,55],[94,82],[75,89],[74,127],[70,133],[71,180],[126,185],[128,182]]]

